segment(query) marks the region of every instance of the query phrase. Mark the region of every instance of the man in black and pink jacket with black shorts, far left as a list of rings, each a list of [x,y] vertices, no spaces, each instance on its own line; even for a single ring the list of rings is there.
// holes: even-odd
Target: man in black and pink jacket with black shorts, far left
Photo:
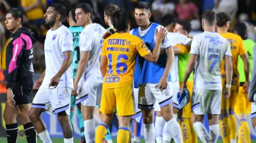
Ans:
[[[36,40],[27,28],[22,27],[23,15],[18,8],[11,8],[6,14],[6,28],[11,40],[6,48],[7,101],[4,110],[7,142],[18,138],[17,115],[24,127],[29,143],[37,142],[37,133],[31,123],[29,94],[33,87],[33,49]]]

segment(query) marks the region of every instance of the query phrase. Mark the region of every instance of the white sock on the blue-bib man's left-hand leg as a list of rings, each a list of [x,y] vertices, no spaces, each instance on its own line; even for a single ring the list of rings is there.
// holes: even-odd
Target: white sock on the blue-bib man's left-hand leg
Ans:
[[[144,124],[144,138],[146,143],[155,143],[154,123]]]

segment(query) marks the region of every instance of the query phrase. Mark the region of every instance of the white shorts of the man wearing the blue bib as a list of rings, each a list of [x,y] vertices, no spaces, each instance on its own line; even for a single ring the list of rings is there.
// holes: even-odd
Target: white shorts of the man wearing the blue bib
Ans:
[[[150,110],[154,108],[157,100],[160,107],[164,107],[172,102],[172,84],[168,82],[168,87],[165,90],[158,88],[157,84],[142,84],[139,86],[138,94],[138,108],[143,110]]]

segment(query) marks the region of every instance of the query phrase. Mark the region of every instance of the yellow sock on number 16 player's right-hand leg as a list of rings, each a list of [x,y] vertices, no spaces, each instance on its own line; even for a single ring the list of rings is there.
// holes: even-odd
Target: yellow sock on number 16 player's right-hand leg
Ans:
[[[129,126],[119,126],[118,129],[118,143],[128,143],[129,142]]]

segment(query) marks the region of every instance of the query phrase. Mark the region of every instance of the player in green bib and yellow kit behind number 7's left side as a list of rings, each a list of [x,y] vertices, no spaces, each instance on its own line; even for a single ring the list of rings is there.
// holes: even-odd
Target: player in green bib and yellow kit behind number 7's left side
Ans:
[[[191,39],[188,37],[189,32],[191,31],[191,24],[189,21],[177,21],[174,33],[181,33],[187,37],[184,41],[190,42]],[[187,44],[187,45],[185,45]],[[174,55],[178,55],[178,76],[180,86],[182,85],[185,67],[187,67],[189,57],[190,57],[190,45],[191,43],[178,44],[173,46]],[[197,142],[197,135],[194,132],[192,125],[192,112],[191,112],[191,103],[192,103],[192,95],[193,95],[193,73],[190,74],[189,79],[187,81],[187,88],[190,93],[190,102],[187,106],[182,108],[182,120],[181,120],[181,131],[183,142]],[[173,102],[174,103],[174,102]]]

